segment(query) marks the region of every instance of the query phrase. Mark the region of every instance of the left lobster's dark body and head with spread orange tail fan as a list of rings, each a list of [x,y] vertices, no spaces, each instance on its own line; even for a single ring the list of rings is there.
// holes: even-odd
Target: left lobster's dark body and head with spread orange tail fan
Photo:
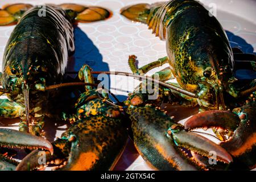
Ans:
[[[0,26],[16,26],[3,55],[0,94],[6,94],[7,99],[0,100],[1,117],[19,117],[19,131],[37,136],[42,133],[44,116],[65,119],[61,118],[62,111],[68,110],[73,100],[65,100],[70,93],[61,89],[61,84],[67,84],[68,57],[75,51],[73,24],[109,17],[110,12],[101,7],[76,4],[32,6],[20,3],[3,7]],[[60,104],[61,100],[68,104],[65,105],[65,101]],[[15,134],[17,138],[20,133]],[[24,139],[19,141],[22,146],[31,148]],[[1,140],[1,146],[6,146],[8,141]]]

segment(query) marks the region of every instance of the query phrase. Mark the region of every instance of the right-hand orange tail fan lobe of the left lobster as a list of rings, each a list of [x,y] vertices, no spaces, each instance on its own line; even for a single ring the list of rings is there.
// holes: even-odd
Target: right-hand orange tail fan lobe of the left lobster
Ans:
[[[102,7],[86,7],[72,3],[61,4],[59,7],[65,10],[72,19],[75,19],[75,22],[96,22],[110,16],[110,12]]]

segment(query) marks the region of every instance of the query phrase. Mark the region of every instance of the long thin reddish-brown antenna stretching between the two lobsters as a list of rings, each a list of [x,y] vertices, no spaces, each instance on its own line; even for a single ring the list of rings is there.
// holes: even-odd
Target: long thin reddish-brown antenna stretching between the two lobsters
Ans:
[[[127,72],[109,72],[109,71],[97,71],[97,72],[93,71],[92,73],[93,74],[104,73],[106,75],[122,75],[122,76],[134,77],[134,78],[142,78],[144,80],[154,81],[155,83],[157,83],[159,85],[165,86],[166,88],[170,88],[172,90],[175,90],[176,92],[180,92],[180,93],[185,94],[189,97],[198,98],[195,93],[188,92],[187,90],[181,89],[181,88],[179,88],[175,85],[168,84],[168,83],[163,82],[163,81],[155,80],[154,78],[152,78],[150,76],[137,75],[137,74],[134,74],[134,73],[127,73]]]

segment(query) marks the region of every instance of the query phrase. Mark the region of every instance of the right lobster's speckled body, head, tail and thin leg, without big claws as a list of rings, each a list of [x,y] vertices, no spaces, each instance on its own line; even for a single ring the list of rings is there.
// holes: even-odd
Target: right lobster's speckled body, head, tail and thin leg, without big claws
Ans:
[[[121,14],[148,24],[156,36],[166,40],[167,56],[142,68],[138,69],[135,56],[130,56],[129,65],[133,73],[143,75],[168,63],[170,73],[163,80],[175,77],[177,86],[194,93],[189,100],[195,98],[193,102],[197,102],[201,110],[226,110],[232,107],[227,98],[237,102],[237,98],[247,93],[245,90],[251,89],[249,84],[247,88],[237,84],[236,61],[246,60],[244,63],[249,63],[246,64],[247,69],[255,71],[255,56],[242,55],[241,52],[233,55],[221,24],[199,2],[174,0],[152,5],[142,3],[124,7]],[[255,91],[255,86],[252,90]]]

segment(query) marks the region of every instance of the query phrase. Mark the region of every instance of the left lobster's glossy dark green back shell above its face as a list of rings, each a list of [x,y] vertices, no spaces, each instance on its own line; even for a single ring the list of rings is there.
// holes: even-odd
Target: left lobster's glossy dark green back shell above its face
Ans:
[[[39,16],[45,11],[46,16]],[[59,7],[46,5],[28,10],[14,28],[3,56],[3,87],[14,77],[9,68],[30,80],[33,69],[40,65],[48,85],[60,82],[67,67],[68,55],[74,51],[73,27],[68,15]],[[29,70],[29,68],[32,69]],[[27,73],[30,72],[30,75]],[[31,78],[34,80],[34,78]]]

